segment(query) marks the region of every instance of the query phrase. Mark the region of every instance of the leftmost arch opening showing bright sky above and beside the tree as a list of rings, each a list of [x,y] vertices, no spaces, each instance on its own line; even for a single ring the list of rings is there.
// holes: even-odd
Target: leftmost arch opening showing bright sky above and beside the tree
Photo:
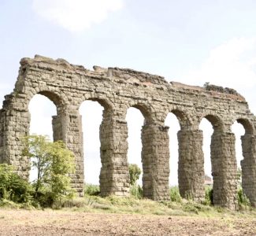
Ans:
[[[53,141],[52,117],[57,115],[57,108],[50,98],[43,94],[35,94],[29,101],[28,111],[30,113],[30,135],[46,135]],[[37,169],[31,168],[29,171],[29,181],[33,182],[37,178]]]

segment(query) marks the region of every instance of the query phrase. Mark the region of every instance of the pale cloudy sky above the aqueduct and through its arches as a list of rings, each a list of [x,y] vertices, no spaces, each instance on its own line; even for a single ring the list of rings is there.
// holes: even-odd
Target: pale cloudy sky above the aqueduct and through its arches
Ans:
[[[89,69],[93,65],[133,68],[168,81],[232,87],[256,113],[255,25],[254,0],[0,0],[0,99],[13,90],[20,58],[40,54]],[[56,113],[51,101],[33,98],[30,111],[31,131],[50,135],[50,116]],[[80,108],[86,116],[88,183],[98,183],[101,112],[100,105],[90,102]],[[129,162],[140,164],[143,116],[129,109],[127,120]],[[203,123],[204,135],[210,137],[210,124]],[[172,141],[170,183],[176,184],[179,127],[175,117],[166,124]],[[236,134],[239,141],[243,134],[239,125]],[[204,143],[206,173],[210,174],[209,138]]]

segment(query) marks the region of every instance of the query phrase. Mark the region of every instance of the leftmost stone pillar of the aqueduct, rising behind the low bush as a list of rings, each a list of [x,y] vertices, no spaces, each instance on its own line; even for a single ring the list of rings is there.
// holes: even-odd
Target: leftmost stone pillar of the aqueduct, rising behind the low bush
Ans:
[[[1,162],[12,164],[17,174],[28,179],[28,158],[22,156],[22,138],[29,135],[30,115],[26,107],[25,94],[5,96],[1,110]]]

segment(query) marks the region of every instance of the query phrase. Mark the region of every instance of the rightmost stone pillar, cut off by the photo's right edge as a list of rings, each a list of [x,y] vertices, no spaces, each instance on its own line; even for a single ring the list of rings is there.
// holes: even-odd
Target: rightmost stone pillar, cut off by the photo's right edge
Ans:
[[[242,187],[243,193],[250,200],[250,204],[256,207],[256,137],[255,135],[241,136],[243,148]]]

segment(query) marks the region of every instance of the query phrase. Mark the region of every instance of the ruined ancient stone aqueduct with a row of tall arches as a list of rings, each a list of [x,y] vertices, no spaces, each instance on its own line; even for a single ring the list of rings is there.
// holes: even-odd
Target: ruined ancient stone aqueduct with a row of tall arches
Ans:
[[[178,178],[182,197],[196,201],[204,198],[204,157],[202,118],[213,125],[211,163],[213,203],[236,208],[235,135],[231,126],[243,125],[242,185],[252,205],[256,206],[256,117],[247,101],[235,90],[216,87],[191,87],[168,83],[131,69],[100,68],[87,70],[58,59],[35,56],[23,58],[13,93],[6,95],[0,110],[0,163],[17,167],[28,177],[28,160],[21,157],[21,139],[29,134],[29,101],[43,94],[57,107],[53,116],[54,140],[61,139],[75,153],[76,174],[72,186],[83,193],[83,134],[80,105],[85,100],[98,101],[103,107],[100,126],[102,168],[100,190],[103,196],[128,195],[128,108],[139,109],[145,118],[142,127],[143,194],[153,200],[169,199],[169,135],[164,125],[169,112],[180,122],[178,132]]]

